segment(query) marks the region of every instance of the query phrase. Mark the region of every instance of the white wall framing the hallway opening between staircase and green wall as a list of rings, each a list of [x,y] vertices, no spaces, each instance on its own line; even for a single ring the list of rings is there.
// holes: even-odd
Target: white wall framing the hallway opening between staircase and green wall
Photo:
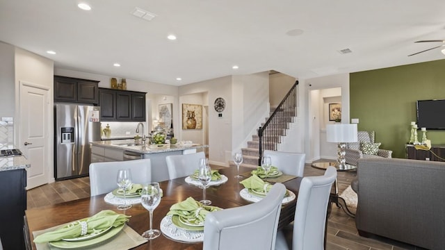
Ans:
[[[302,81],[300,81],[301,83]],[[349,115],[349,74],[337,74],[333,76],[323,76],[318,78],[305,79],[304,81],[305,100],[307,107],[307,132],[305,152],[308,162],[318,160],[320,158],[337,158],[337,145],[326,142],[325,133],[321,133],[324,127],[325,113],[323,113],[323,91],[330,88],[340,88],[341,91],[341,123],[350,123]],[[338,93],[338,92],[337,92]],[[338,94],[337,94],[338,95]],[[332,96],[335,96],[333,94]],[[332,97],[331,96],[331,97]],[[323,144],[323,146],[322,146]],[[323,155],[321,152],[328,155]],[[333,153],[333,155],[331,155]]]

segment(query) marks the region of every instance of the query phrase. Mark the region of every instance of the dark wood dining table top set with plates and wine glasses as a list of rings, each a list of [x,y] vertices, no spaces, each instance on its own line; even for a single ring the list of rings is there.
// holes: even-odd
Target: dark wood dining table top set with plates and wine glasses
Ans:
[[[216,167],[213,169],[218,168]],[[250,172],[251,170],[252,169],[250,168],[240,167],[240,173]],[[212,206],[235,208],[251,203],[250,201],[243,199],[239,193],[244,188],[239,181],[242,181],[245,178],[234,178],[236,175],[236,167],[221,167],[219,172],[220,174],[227,176],[228,181],[222,185],[207,188],[207,199],[211,200]],[[298,196],[301,180],[302,178],[297,177],[286,181],[283,184],[286,185],[288,190],[291,190]],[[273,179],[271,178],[268,181],[272,182]],[[193,197],[197,201],[202,199],[202,188],[186,183],[184,177],[170,181],[162,181],[159,184],[163,190],[163,197],[161,203],[153,213],[153,228],[160,229],[161,219],[165,217],[173,204],[184,201],[188,197]],[[115,205],[106,203],[104,197],[105,194],[102,194],[95,197],[26,210],[25,232],[29,246],[32,249],[35,249],[35,244],[33,244],[33,231],[40,231],[67,222],[90,217],[102,210],[114,210],[117,213],[131,215],[127,224],[139,234],[142,234],[149,229],[149,213],[142,205],[140,205],[140,203],[133,205],[129,210],[122,211],[118,210]],[[293,221],[296,200],[297,199],[294,199],[282,206],[279,228],[282,228]],[[252,213],[254,213],[254,211],[252,211]],[[161,234],[159,238],[149,240],[147,243],[141,244],[134,249],[202,249],[202,242],[193,244],[177,242],[170,238],[166,238]]]

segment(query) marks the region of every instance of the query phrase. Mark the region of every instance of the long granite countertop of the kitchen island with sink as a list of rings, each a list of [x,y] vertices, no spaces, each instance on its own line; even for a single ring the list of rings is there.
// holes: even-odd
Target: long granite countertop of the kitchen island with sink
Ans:
[[[145,144],[144,146],[140,143],[135,143],[134,140],[104,140],[90,142],[93,146],[97,147],[107,147],[111,149],[121,149],[124,151],[132,151],[135,153],[163,153],[170,151],[179,151],[186,149],[200,149],[204,147],[209,147],[209,145],[202,144],[162,144],[161,147],[156,147],[156,145]]]

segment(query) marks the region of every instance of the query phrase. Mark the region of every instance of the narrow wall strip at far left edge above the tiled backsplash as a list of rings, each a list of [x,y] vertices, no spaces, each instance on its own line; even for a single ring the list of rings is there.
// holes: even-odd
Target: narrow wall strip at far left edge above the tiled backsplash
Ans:
[[[15,115],[14,53],[13,45],[0,42],[0,117]]]

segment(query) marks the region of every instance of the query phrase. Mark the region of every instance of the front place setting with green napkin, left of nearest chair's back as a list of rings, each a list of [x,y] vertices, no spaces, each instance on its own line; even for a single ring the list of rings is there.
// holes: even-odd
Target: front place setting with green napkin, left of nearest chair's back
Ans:
[[[203,205],[188,197],[170,207],[170,211],[161,220],[161,232],[165,237],[179,242],[202,242],[205,217],[218,210],[222,208]]]

